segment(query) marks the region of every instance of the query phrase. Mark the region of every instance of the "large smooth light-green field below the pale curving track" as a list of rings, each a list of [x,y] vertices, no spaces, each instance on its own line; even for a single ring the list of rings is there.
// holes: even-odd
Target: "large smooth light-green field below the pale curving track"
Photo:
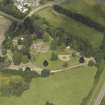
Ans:
[[[0,97],[0,105],[80,105],[90,91],[96,69],[81,67],[49,78],[33,79],[30,89],[21,97]]]

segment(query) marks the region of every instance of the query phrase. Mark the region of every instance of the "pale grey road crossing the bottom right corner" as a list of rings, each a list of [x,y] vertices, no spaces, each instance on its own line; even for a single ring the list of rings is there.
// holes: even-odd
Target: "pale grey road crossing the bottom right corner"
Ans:
[[[94,105],[100,105],[101,104],[101,101],[102,99],[104,98],[105,96],[105,83],[104,85],[102,86],[100,92],[99,92],[99,95],[97,96],[96,98],[96,101],[95,101],[95,104]]]

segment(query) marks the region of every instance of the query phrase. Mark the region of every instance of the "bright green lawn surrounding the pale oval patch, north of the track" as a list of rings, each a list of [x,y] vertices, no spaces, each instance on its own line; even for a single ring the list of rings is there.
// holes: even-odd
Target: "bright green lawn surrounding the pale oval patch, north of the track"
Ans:
[[[43,62],[45,60],[48,61],[48,69],[50,70],[56,70],[56,69],[63,69],[65,68],[63,65],[65,64],[64,61],[59,60],[59,58],[57,60],[52,61],[51,57],[52,57],[52,53],[54,53],[54,51],[52,50],[48,50],[48,52],[42,53],[42,52],[37,52],[36,49],[31,49],[31,55],[32,55],[32,63],[37,65],[38,67],[42,67],[43,66]],[[56,50],[55,53],[56,55],[72,55],[73,50],[72,49],[63,49],[63,50]],[[68,67],[70,66],[74,66],[74,65],[78,65],[79,64],[79,57],[78,56],[71,56],[70,60],[67,62],[68,63]]]

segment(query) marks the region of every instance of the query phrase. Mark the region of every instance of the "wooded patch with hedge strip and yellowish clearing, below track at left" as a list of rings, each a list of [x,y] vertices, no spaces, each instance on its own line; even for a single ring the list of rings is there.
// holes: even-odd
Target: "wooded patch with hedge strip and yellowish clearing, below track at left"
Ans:
[[[0,81],[0,92],[3,96],[20,96],[22,93],[29,89],[30,82],[33,77],[38,77],[39,75],[31,71],[29,67],[23,71],[19,70],[0,70],[0,73],[8,79]],[[8,74],[8,75],[7,75]]]

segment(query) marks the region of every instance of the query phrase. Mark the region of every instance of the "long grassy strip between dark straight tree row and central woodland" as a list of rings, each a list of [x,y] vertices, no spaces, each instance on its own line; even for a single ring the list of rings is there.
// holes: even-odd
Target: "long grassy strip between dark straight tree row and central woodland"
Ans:
[[[46,8],[38,12],[38,15],[44,17],[55,27],[62,27],[70,34],[77,35],[83,39],[88,39],[94,48],[99,47],[101,44],[103,33],[98,32],[97,30],[83,25],[73,19],[55,14],[52,8]]]

